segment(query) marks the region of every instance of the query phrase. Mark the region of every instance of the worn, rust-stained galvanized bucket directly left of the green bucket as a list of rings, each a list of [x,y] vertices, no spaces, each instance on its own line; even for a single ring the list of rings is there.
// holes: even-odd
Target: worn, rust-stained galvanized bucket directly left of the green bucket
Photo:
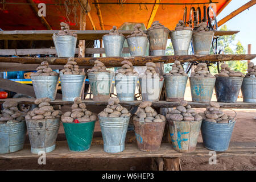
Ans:
[[[55,143],[60,127],[60,119],[28,119],[27,131],[30,139],[31,153],[55,150]]]

